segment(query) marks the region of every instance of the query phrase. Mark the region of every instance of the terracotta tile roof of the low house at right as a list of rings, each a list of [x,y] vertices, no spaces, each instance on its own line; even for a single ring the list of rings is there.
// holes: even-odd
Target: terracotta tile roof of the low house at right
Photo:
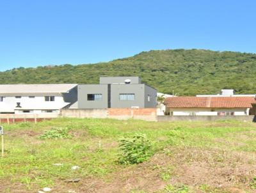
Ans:
[[[177,96],[164,100],[167,108],[252,108],[255,103],[255,98],[249,96]]]

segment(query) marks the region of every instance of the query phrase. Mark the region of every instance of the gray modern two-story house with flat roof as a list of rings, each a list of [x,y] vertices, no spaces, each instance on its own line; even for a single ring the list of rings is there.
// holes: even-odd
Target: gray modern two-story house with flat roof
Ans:
[[[100,84],[77,88],[77,103],[70,109],[154,108],[157,90],[140,77],[100,77]]]

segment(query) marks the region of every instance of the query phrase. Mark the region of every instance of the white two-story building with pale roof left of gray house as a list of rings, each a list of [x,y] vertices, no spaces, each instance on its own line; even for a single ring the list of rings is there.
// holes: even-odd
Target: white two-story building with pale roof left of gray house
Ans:
[[[77,101],[77,84],[0,84],[1,114],[58,114]]]

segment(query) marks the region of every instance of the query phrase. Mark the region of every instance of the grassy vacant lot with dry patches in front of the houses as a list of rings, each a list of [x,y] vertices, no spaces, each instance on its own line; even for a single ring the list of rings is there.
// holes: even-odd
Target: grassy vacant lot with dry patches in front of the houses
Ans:
[[[39,138],[52,127],[72,137]],[[4,128],[0,192],[256,192],[256,123],[56,119]],[[154,155],[118,164],[118,139],[135,133]]]

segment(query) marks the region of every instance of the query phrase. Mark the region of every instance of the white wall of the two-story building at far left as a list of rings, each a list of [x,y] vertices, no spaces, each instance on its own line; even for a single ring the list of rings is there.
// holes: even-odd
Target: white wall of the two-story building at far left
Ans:
[[[21,96],[21,98],[15,96],[3,96],[3,101],[0,102],[0,112],[15,112],[17,114],[58,113],[62,107],[68,105],[61,95],[45,94],[38,96],[37,94],[36,96],[36,94],[29,94],[29,97],[28,95],[24,96],[17,94],[16,96]],[[45,101],[45,96],[54,96],[54,101]],[[21,107],[17,107],[18,102]],[[26,110],[30,111],[24,112]],[[46,110],[52,110],[52,112],[47,112]]]

